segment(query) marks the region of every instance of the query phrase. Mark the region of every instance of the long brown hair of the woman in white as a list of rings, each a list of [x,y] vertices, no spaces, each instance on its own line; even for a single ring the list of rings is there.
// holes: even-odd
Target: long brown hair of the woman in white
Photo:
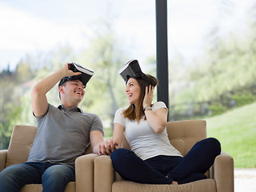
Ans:
[[[143,99],[145,97],[145,90],[146,90],[146,86],[158,86],[158,79],[154,78],[154,76],[150,75],[150,74],[146,74],[147,77],[147,82],[143,79],[143,78],[134,78],[136,79],[136,81],[138,82],[139,87],[141,88],[141,94],[139,96],[139,101],[138,101],[138,107],[135,109],[134,104],[130,104],[130,106],[126,109],[122,111],[122,114],[124,116],[124,118],[129,118],[130,120],[137,120],[137,122],[140,121],[140,119],[142,119],[143,116],[145,116],[144,114],[144,110],[143,110]],[[146,117],[144,118],[146,120]]]

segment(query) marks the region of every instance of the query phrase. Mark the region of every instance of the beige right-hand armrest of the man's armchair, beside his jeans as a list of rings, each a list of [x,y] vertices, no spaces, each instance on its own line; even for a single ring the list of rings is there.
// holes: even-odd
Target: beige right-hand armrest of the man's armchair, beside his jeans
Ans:
[[[98,154],[85,154],[75,160],[76,192],[94,192],[94,158]]]

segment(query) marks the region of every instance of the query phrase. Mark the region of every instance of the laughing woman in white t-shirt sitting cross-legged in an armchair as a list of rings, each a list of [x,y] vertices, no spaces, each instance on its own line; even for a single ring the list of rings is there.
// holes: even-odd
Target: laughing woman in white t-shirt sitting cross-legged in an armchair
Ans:
[[[158,80],[142,71],[140,75],[129,73],[121,75],[126,80],[130,106],[118,109],[115,114],[113,142],[118,146],[125,133],[131,150],[114,150],[111,154],[114,169],[126,180],[148,184],[177,185],[206,178],[204,173],[221,152],[218,140],[206,138],[182,157],[167,136],[165,103],[152,104]]]

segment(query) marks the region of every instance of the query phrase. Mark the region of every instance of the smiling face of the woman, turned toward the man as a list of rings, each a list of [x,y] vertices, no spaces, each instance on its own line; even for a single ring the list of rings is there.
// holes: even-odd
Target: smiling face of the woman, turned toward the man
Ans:
[[[138,105],[141,88],[135,78],[129,78],[126,84],[126,95],[130,104]]]

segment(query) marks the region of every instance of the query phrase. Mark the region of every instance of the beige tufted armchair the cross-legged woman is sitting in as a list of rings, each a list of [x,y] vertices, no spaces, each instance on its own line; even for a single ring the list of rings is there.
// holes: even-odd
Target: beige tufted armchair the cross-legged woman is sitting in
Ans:
[[[206,121],[167,122],[171,144],[185,155],[194,144],[206,138]],[[126,139],[122,147],[129,149]],[[110,156],[94,158],[95,192],[232,192],[234,191],[234,161],[222,152],[207,171],[207,179],[183,185],[151,185],[123,180],[113,169]]]

